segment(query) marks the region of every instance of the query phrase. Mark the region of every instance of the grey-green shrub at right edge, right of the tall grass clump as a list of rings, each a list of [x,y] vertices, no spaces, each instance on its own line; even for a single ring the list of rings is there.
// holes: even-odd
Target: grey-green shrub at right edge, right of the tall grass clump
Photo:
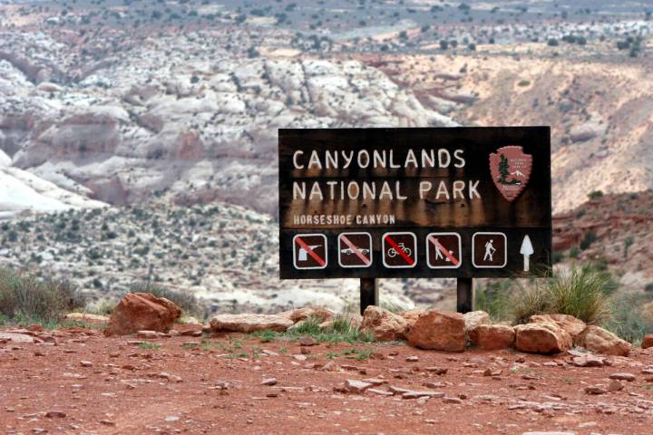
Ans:
[[[638,344],[648,333],[653,333],[653,314],[639,308],[651,301],[650,295],[621,295],[613,301],[612,319],[606,329],[624,340]]]

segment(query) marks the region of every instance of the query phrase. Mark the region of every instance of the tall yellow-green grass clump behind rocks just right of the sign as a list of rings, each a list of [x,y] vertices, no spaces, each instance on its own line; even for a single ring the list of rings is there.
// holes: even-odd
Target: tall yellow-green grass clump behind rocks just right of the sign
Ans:
[[[588,324],[605,324],[612,317],[609,295],[616,282],[608,271],[594,266],[556,272],[543,281],[531,280],[512,301],[515,323],[533,314],[570,314]]]

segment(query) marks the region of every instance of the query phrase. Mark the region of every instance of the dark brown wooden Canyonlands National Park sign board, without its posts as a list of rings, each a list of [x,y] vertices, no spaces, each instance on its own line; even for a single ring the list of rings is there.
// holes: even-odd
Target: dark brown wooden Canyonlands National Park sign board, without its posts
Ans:
[[[544,275],[549,127],[279,130],[281,278]]]

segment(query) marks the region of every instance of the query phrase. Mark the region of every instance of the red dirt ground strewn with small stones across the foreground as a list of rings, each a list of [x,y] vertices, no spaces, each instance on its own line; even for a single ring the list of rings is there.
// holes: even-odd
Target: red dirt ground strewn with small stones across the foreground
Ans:
[[[403,343],[37,335],[45,342],[0,331],[0,433],[653,433],[653,349],[576,367],[569,354],[438,353]],[[635,380],[616,392],[584,391],[619,372]],[[387,383],[337,391],[370,378]],[[390,386],[442,394],[404,399],[385,395]]]

